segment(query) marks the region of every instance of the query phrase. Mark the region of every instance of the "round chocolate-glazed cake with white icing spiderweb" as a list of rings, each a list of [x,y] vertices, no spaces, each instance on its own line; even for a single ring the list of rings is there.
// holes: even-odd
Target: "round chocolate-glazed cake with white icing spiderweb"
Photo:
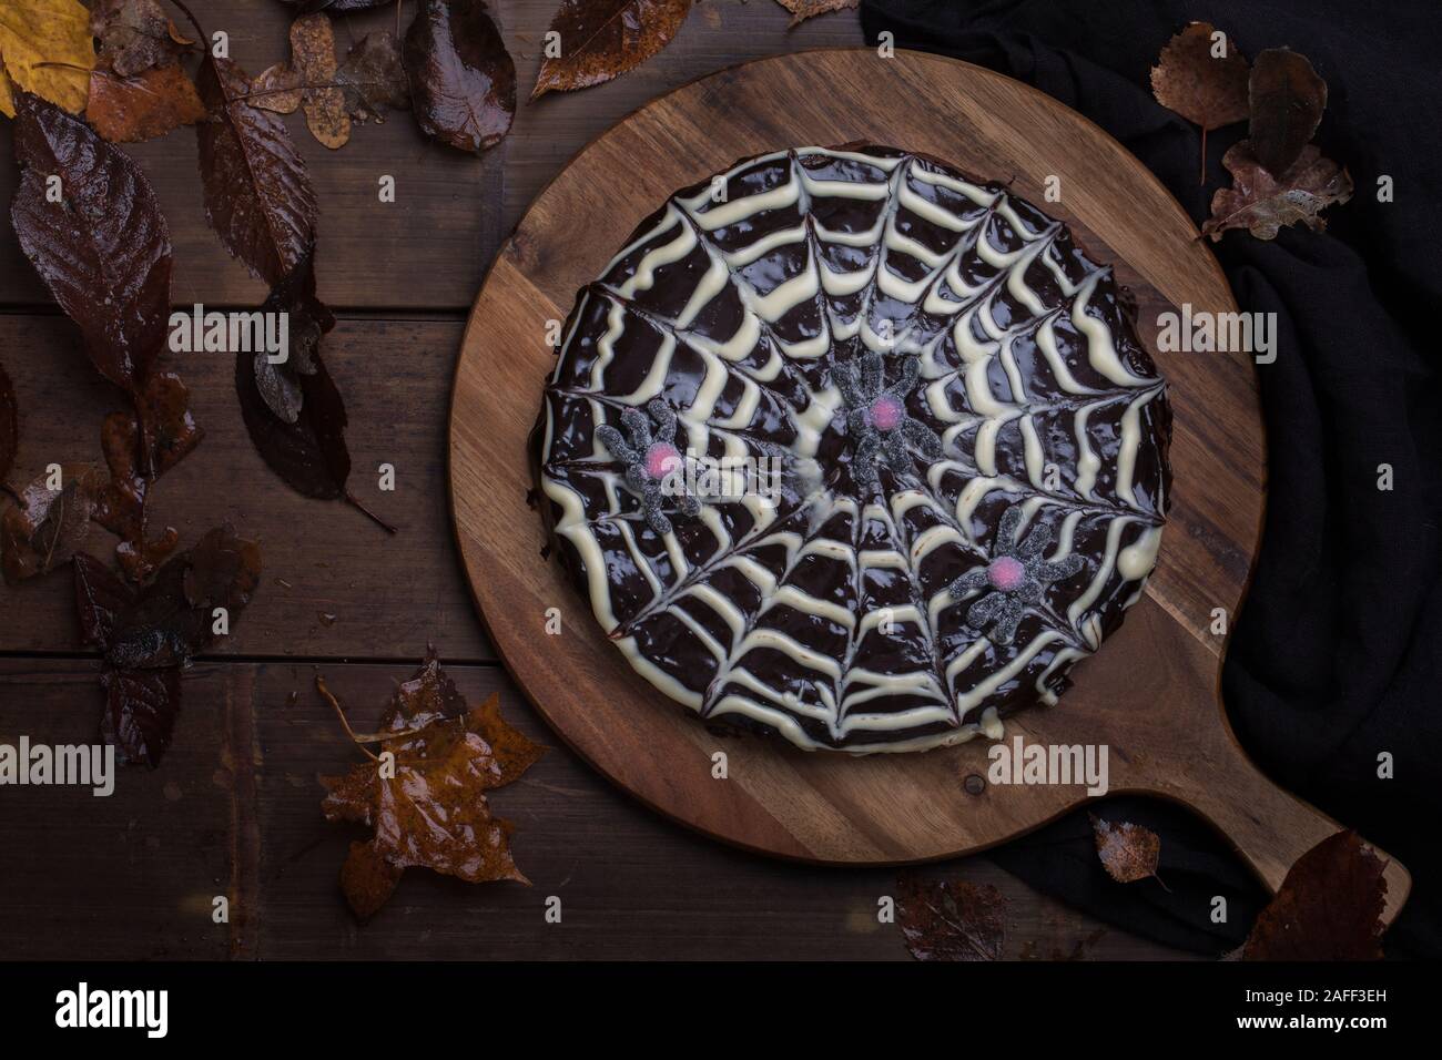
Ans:
[[[999,737],[1156,561],[1171,411],[1133,316],[1001,185],[887,147],[747,159],[581,290],[535,433],[551,541],[702,718]]]

